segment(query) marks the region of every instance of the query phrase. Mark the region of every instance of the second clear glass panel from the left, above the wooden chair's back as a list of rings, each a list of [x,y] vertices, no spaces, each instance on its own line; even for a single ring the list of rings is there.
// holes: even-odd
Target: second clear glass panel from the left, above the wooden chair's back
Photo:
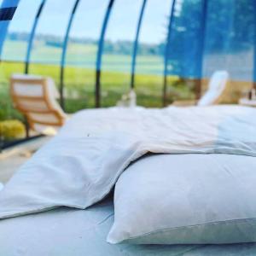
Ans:
[[[30,73],[49,76],[59,85],[63,38],[74,0],[47,0],[32,46]]]

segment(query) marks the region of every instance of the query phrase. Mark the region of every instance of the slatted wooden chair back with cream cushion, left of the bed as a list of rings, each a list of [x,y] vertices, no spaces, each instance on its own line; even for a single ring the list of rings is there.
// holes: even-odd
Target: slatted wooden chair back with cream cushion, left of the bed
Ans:
[[[56,101],[59,96],[52,79],[14,74],[10,79],[15,108],[26,115],[30,127],[39,133],[55,133],[67,119]]]

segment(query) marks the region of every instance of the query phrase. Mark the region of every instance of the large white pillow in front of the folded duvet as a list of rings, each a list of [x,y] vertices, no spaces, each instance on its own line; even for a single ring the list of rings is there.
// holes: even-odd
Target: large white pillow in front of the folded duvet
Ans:
[[[119,177],[108,242],[256,241],[256,158],[158,154]]]

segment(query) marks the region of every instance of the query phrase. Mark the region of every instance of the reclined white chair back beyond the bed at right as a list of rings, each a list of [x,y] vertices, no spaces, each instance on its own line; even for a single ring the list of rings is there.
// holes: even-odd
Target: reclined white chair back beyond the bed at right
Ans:
[[[198,106],[209,106],[218,103],[223,95],[226,84],[229,80],[229,73],[226,71],[216,71],[212,74],[208,90],[197,102]]]

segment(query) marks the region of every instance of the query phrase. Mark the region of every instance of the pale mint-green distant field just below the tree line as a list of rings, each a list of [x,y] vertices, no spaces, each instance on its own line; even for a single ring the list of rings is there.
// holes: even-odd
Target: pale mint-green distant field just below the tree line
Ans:
[[[27,43],[7,40],[3,46],[3,60],[24,61]],[[96,44],[68,44],[67,66],[95,68]],[[61,48],[35,41],[32,48],[31,61],[58,65],[61,61]],[[163,73],[163,59],[159,55],[138,55],[137,73]],[[131,73],[131,55],[103,54],[102,69],[105,71]]]

